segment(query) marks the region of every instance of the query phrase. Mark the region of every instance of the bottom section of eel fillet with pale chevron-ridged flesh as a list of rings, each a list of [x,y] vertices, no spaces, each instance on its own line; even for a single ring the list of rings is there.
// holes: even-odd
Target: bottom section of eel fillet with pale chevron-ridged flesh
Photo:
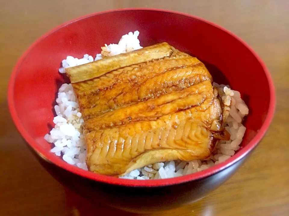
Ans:
[[[120,175],[157,163],[162,158],[190,161],[209,157],[214,147],[214,136],[207,129],[210,126],[204,122],[208,116],[218,118],[221,110],[219,113],[214,110],[214,106],[219,106],[218,100],[208,99],[205,102],[203,106],[162,116],[155,121],[132,122],[86,133],[87,164],[90,170],[106,175]],[[112,143],[112,140],[117,142]],[[109,145],[104,144],[108,142]],[[164,149],[169,151],[154,152]],[[159,154],[161,157],[157,156]]]

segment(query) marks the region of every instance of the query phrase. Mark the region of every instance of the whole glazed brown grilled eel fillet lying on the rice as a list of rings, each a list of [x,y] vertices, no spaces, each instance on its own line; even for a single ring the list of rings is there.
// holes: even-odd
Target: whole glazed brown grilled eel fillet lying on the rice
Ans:
[[[162,43],[113,59],[68,73],[80,80],[72,85],[90,171],[122,176],[161,161],[205,159],[230,138],[212,76],[197,58]]]

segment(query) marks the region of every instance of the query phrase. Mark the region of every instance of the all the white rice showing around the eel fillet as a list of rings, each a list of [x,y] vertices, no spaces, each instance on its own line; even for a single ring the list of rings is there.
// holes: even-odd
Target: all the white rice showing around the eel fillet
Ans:
[[[102,58],[102,55],[113,56],[140,49],[142,47],[140,46],[138,35],[138,31],[134,33],[129,32],[129,34],[122,36],[118,44],[105,44],[102,47],[101,54],[97,54],[95,58],[88,54],[85,54],[80,59],[67,56],[62,61],[62,67],[59,69],[59,72],[65,73],[66,67],[97,61]],[[146,167],[133,170],[120,178],[144,180],[183,176],[205,170],[232,157],[235,151],[240,149],[239,145],[246,131],[241,122],[244,116],[249,113],[249,110],[241,99],[240,92],[231,90],[228,85],[219,85],[217,83],[213,83],[213,85],[218,88],[220,97],[227,106],[225,109],[228,112],[228,118],[224,126],[230,133],[231,139],[229,141],[219,141],[208,160],[166,161],[150,164]],[[86,146],[82,134],[83,119],[81,118],[78,101],[71,84],[63,84],[59,88],[56,102],[58,105],[54,109],[57,116],[53,120],[55,126],[50,131],[50,134],[45,135],[44,139],[49,143],[54,143],[51,152],[55,155],[61,156],[68,164],[87,170],[85,163]]]

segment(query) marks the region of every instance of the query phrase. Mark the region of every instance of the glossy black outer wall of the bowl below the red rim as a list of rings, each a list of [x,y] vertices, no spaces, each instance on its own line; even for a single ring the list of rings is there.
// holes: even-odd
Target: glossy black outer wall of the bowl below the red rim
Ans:
[[[33,149],[31,150],[37,155]],[[127,187],[96,182],[61,169],[43,160],[39,155],[37,158],[61,184],[92,202],[129,212],[150,213],[176,208],[203,198],[228,180],[249,155],[250,153],[235,164],[207,178],[160,187]]]

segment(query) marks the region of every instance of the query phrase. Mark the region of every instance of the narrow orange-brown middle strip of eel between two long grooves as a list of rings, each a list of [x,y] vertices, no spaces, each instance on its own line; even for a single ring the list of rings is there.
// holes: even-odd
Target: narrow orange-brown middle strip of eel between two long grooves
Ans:
[[[210,81],[207,80],[183,90],[172,91],[160,95],[158,98],[96,116],[85,122],[85,129],[92,131],[112,128],[133,121],[156,120],[161,116],[199,106],[206,98],[213,99],[213,89],[210,87]]]

